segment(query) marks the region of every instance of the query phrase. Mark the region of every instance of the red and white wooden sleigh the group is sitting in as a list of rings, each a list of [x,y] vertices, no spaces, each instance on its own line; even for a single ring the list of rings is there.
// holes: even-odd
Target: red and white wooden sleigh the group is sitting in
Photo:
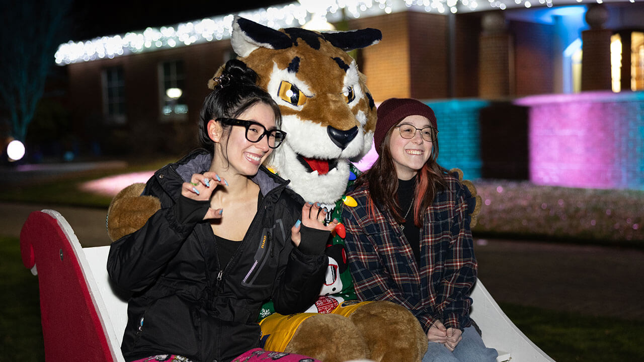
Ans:
[[[106,271],[109,247],[83,248],[57,211],[34,211],[20,235],[24,265],[39,276],[45,359],[124,362],[127,301]],[[471,316],[498,362],[553,361],[516,326],[478,281]]]

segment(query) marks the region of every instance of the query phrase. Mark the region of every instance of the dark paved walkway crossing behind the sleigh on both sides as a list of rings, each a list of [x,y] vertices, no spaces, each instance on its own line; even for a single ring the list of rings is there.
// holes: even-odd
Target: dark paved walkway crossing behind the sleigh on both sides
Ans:
[[[19,236],[29,213],[59,211],[84,246],[106,245],[106,209],[0,203],[0,235]],[[477,240],[478,276],[497,301],[644,320],[644,251]]]

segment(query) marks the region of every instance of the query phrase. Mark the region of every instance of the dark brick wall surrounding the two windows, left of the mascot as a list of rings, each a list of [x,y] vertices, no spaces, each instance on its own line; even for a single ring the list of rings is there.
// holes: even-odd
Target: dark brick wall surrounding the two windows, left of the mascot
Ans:
[[[98,142],[105,153],[180,155],[196,146],[196,123],[209,92],[207,81],[223,64],[229,41],[138,53],[68,65],[71,119],[77,138]],[[168,122],[160,115],[158,65],[184,61],[187,120]],[[125,78],[126,117],[123,125],[109,124],[102,105],[102,71],[121,66]],[[169,137],[172,135],[172,137]]]

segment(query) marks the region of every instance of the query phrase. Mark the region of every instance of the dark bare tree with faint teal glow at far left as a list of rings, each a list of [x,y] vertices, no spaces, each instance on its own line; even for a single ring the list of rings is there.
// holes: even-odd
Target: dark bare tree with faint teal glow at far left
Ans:
[[[44,84],[55,66],[70,0],[0,0],[0,115],[24,142]]]

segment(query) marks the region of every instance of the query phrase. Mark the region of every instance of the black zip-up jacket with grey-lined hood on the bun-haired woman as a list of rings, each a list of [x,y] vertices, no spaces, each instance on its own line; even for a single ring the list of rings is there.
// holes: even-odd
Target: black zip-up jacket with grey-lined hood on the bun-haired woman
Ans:
[[[162,209],[111,245],[109,276],[133,292],[121,346],[127,360],[170,353],[231,361],[258,347],[262,303],[301,312],[324,282],[327,257],[303,254],[290,241],[302,198],[264,167],[253,178],[263,195],[257,214],[231,261],[220,265],[213,231],[200,222],[209,203],[180,196],[184,180],[210,162],[197,151],[157,171],[144,194],[160,198]]]

